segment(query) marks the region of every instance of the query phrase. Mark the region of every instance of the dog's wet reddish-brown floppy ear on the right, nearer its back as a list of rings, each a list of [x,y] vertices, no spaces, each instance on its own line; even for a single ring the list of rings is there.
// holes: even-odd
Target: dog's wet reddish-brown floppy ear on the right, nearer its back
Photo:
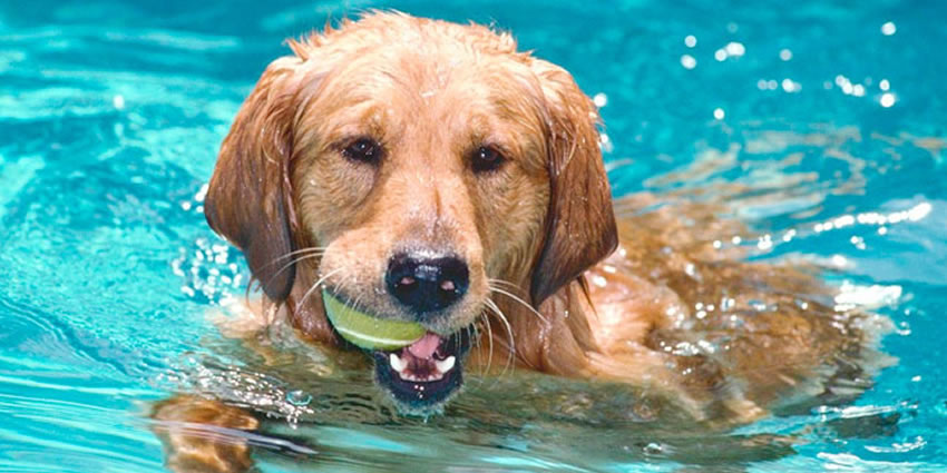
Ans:
[[[539,305],[618,244],[612,190],[598,147],[598,114],[572,76],[549,62],[533,65],[545,98],[550,180],[546,240],[533,268]]]

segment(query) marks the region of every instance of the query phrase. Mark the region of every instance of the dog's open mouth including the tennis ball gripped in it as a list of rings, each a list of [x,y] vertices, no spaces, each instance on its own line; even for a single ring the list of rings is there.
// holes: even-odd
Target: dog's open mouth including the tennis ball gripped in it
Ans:
[[[441,336],[420,324],[385,319],[323,294],[326,316],[339,336],[371,354],[375,382],[407,414],[439,411],[462,384],[461,365],[473,329]]]

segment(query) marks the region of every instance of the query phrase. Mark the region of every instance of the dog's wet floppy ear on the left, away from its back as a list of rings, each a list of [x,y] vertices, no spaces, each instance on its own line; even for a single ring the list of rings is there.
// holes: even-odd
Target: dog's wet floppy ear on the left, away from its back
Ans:
[[[207,223],[243,252],[263,292],[277,303],[295,278],[289,166],[297,63],[287,57],[266,68],[221,146],[204,203]]]

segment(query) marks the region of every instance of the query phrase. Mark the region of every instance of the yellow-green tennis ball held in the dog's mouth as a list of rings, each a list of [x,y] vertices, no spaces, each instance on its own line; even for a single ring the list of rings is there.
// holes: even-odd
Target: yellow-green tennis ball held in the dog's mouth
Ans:
[[[390,321],[357,311],[328,292],[322,292],[329,322],[352,345],[365,349],[392,351],[408,346],[428,331],[413,322]]]

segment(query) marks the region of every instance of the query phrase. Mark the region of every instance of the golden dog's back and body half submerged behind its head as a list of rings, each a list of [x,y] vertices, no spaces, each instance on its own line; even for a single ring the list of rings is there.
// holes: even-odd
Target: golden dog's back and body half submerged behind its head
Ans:
[[[746,262],[733,237],[748,230],[722,210],[652,195],[616,204],[622,244],[586,275],[614,358],[603,373],[622,378],[643,351],[661,354],[647,375],[725,423],[870,387],[891,362],[875,349],[889,321],[837,305],[814,266]]]

